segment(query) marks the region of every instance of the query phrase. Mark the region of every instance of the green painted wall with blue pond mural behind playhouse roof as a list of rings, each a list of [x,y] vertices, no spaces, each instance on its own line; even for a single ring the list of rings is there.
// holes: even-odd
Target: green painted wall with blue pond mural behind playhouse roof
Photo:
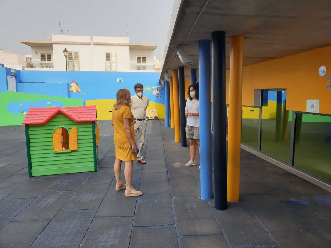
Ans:
[[[45,106],[40,106],[40,102],[38,101],[44,101]],[[0,126],[22,125],[25,114],[15,111],[21,112],[20,107],[22,107],[22,110],[27,112],[27,106],[32,107],[34,102],[38,105],[33,107],[47,107],[47,101],[51,103],[52,101],[56,101],[62,104],[57,107],[83,106],[82,99],[3,91],[0,93]],[[28,103],[29,105],[26,102],[30,102]],[[20,106],[20,103],[23,103],[23,105]]]

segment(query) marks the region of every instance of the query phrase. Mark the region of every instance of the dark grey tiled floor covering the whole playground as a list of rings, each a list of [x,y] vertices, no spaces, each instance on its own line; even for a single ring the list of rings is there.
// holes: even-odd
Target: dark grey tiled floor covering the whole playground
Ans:
[[[240,201],[217,211],[162,120],[148,122],[148,163],[133,166],[138,198],[114,189],[110,122],[100,136],[98,172],[29,178],[24,127],[0,127],[0,248],[330,247],[331,194],[247,151]]]

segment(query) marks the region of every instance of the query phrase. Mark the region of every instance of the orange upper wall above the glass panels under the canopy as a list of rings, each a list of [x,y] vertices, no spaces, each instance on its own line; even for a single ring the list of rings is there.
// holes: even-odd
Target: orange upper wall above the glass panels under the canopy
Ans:
[[[245,51],[244,51],[245,53]],[[320,66],[327,67],[319,76]],[[254,89],[286,88],[286,109],[306,112],[307,99],[319,99],[319,113],[331,114],[331,46],[243,68],[242,105],[254,105]],[[229,71],[226,71],[226,103],[229,102]]]

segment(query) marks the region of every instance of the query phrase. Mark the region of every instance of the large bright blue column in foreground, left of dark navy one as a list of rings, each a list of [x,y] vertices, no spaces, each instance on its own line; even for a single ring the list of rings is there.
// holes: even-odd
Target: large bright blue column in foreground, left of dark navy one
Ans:
[[[212,199],[210,40],[199,40],[199,113],[201,199]],[[225,118],[225,117],[224,117]]]

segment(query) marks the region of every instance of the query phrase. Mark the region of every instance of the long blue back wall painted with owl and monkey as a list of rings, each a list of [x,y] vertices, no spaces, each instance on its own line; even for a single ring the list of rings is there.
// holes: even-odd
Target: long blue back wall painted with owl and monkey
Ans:
[[[117,82],[117,78],[122,78],[123,82]],[[165,104],[164,87],[160,87],[158,79],[159,73],[147,72],[21,71],[20,82],[44,82],[33,84],[33,93],[63,96],[65,92],[62,84],[70,84],[74,80],[78,83],[80,91],[69,92],[69,97],[84,100],[116,99],[116,93],[120,88],[128,88],[134,95],[134,84],[142,83],[146,89],[144,95],[148,96],[150,101]],[[49,90],[46,84],[52,84],[52,90]],[[20,83],[21,87],[23,86]],[[153,94],[156,89],[160,92]],[[32,89],[28,90],[28,87],[24,86],[24,92],[32,93]]]

